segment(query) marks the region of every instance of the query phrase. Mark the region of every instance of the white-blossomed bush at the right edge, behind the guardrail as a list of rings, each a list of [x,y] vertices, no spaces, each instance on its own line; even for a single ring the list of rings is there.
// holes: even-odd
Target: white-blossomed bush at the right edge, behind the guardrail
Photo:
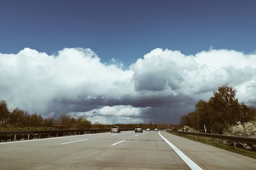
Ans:
[[[241,123],[237,122],[236,125],[232,125],[223,132],[225,135],[232,136],[244,136],[250,138],[256,138],[256,121]],[[246,143],[238,143],[246,149],[256,150],[256,145],[247,145]]]

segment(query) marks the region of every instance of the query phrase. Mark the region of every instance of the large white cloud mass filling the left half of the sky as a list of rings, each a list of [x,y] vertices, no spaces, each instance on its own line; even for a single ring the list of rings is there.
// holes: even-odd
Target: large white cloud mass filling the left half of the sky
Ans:
[[[65,48],[47,55],[24,48],[17,54],[0,53],[0,94],[10,106],[44,112],[54,100],[129,94],[132,71],[105,65],[90,49]]]

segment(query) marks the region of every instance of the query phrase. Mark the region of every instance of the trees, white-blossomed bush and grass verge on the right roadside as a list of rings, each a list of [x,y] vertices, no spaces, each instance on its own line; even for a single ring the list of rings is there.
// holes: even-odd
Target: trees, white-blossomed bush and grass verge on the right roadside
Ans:
[[[216,133],[231,136],[256,138],[256,110],[236,98],[236,90],[227,85],[219,87],[208,101],[200,100],[195,104],[195,111],[180,119],[182,128],[178,131]],[[256,159],[256,144],[228,143],[220,139],[198,136],[185,136],[232,152],[241,153]]]

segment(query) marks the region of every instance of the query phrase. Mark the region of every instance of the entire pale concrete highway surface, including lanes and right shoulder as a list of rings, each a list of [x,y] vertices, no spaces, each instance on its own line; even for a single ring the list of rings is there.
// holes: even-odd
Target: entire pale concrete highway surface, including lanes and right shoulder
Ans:
[[[0,169],[256,169],[256,160],[168,132],[0,143]]]

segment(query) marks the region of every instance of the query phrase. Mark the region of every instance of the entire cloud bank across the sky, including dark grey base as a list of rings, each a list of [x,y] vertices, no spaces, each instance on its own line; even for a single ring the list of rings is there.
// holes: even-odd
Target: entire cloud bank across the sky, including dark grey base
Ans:
[[[68,113],[102,123],[177,124],[198,99],[227,84],[241,102],[255,106],[255,53],[211,48],[184,55],[156,48],[123,66],[118,59],[102,63],[88,48],[0,53],[0,99],[45,117]]]

